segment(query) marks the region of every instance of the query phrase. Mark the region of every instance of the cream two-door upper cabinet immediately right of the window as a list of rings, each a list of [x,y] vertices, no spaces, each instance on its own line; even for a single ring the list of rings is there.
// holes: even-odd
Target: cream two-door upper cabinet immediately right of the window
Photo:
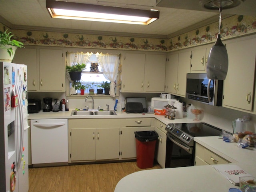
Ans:
[[[126,53],[120,92],[163,92],[166,55]]]

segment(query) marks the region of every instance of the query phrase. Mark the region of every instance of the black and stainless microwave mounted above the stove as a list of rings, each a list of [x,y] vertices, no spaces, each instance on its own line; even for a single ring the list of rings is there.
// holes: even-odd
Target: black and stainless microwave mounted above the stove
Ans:
[[[205,104],[222,105],[223,80],[211,80],[206,73],[188,73],[186,98]]]

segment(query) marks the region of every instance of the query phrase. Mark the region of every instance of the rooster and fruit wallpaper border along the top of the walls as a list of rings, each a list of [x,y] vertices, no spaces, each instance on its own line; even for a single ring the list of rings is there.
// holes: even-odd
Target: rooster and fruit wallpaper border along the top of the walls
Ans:
[[[0,23],[0,31],[4,31],[5,28],[6,26]],[[168,52],[215,42],[218,34],[218,22],[170,39],[101,36],[34,30],[11,31],[14,34],[14,38],[23,42],[24,45]],[[222,20],[222,40],[253,33],[256,33],[255,16],[235,15]]]

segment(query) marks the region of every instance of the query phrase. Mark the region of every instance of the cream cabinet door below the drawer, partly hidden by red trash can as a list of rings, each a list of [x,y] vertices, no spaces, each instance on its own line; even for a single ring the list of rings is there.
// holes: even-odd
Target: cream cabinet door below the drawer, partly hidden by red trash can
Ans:
[[[120,129],[120,155],[122,159],[136,158],[135,131],[152,131],[154,127],[122,127]]]

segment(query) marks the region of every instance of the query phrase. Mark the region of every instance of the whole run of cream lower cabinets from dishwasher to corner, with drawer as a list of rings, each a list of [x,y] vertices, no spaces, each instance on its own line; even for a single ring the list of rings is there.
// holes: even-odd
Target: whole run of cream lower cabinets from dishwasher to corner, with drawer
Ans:
[[[152,118],[68,120],[68,162],[136,158],[135,131],[154,130]]]

